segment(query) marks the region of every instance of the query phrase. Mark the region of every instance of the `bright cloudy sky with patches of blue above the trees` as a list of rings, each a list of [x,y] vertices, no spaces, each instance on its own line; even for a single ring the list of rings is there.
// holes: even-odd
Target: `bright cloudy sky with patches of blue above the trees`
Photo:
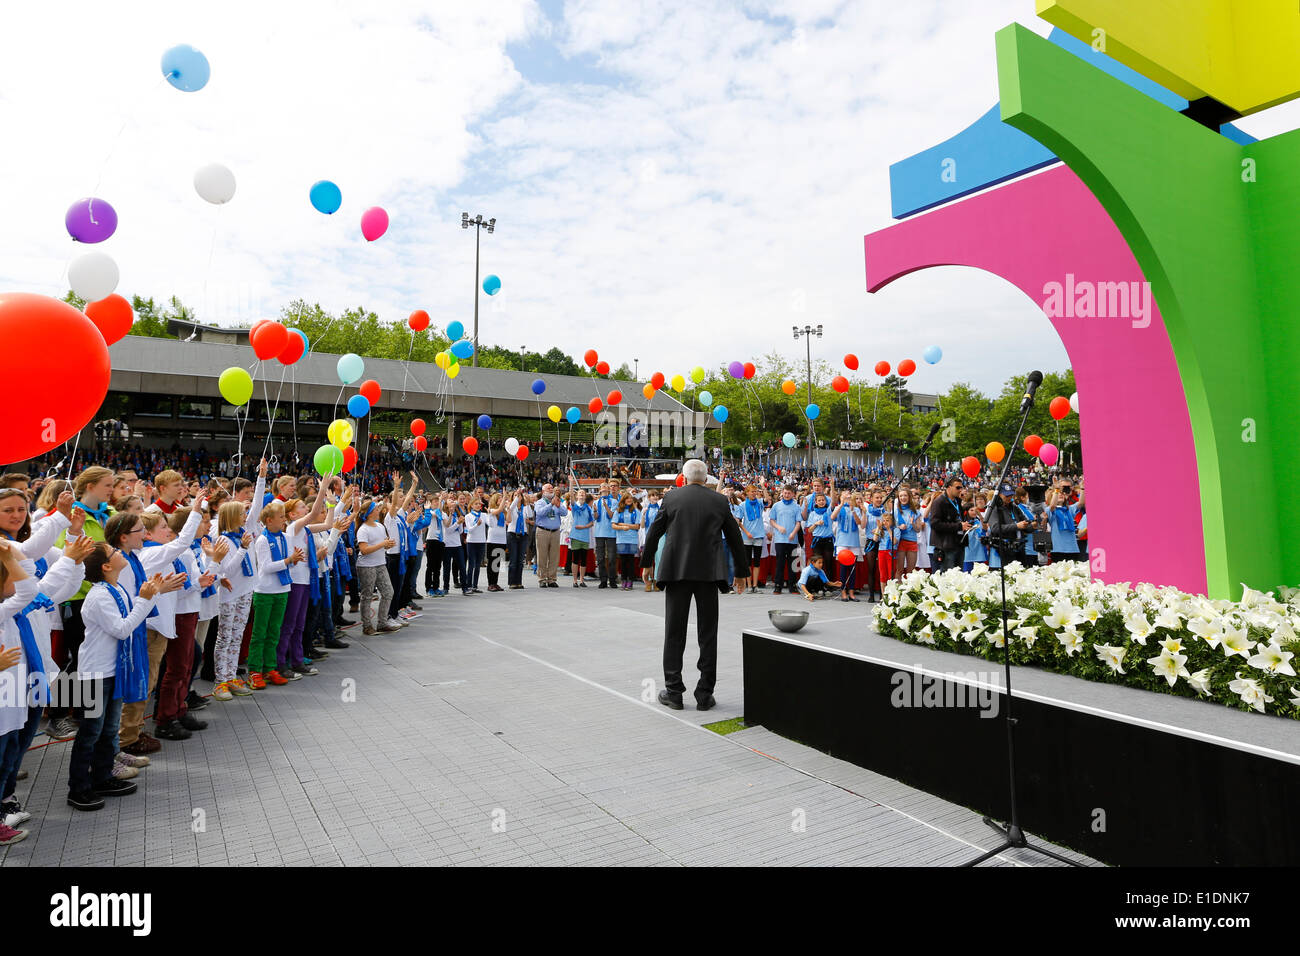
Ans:
[[[642,378],[779,349],[920,358],[922,392],[1061,369],[1041,313],[1001,280],[935,269],[864,290],[862,237],[890,222],[888,166],[997,96],[993,33],[1040,34],[1032,0],[476,0],[6,4],[0,30],[0,289],[62,295],[64,212],[110,202],[118,291],[179,295],[200,321],[292,298],[434,323],[485,343],[588,347]],[[177,43],[209,85],[172,88]],[[1287,129],[1287,113],[1242,124]],[[238,191],[204,203],[194,170]],[[343,207],[308,203],[329,178]],[[389,233],[361,238],[385,207]],[[994,347],[989,342],[998,339]]]

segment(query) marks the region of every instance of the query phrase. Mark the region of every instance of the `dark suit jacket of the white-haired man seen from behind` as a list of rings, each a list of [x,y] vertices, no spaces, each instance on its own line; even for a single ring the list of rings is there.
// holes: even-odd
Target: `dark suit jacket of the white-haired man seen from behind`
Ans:
[[[654,567],[659,540],[663,555],[655,580],[671,581],[725,581],[727,555],[723,554],[723,536],[731,548],[737,568],[749,567],[749,554],[740,525],[731,512],[727,498],[706,485],[685,485],[663,501],[658,516],[646,532],[641,566]]]

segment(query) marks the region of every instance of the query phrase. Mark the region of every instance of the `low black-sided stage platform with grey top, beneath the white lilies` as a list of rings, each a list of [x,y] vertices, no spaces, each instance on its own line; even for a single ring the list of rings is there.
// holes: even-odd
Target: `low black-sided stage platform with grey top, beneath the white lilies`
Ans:
[[[1004,819],[1001,665],[810,610],[798,633],[744,632],[746,723]],[[1031,839],[1126,866],[1300,864],[1300,722],[1030,667],[1011,682]]]

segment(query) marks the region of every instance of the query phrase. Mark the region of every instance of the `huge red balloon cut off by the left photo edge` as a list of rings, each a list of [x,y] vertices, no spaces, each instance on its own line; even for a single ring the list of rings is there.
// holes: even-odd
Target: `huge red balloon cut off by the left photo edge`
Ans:
[[[108,394],[112,362],[95,323],[48,295],[0,293],[0,378],[10,399],[0,462],[25,462],[90,423]]]

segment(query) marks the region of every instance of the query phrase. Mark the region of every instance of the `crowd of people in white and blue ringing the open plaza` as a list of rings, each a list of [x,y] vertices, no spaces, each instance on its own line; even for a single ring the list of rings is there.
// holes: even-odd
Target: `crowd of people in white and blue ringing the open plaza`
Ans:
[[[393,471],[376,489],[351,476],[273,475],[266,459],[251,477],[202,471],[202,457],[112,463],[125,467],[0,476],[0,845],[27,832],[17,783],[42,726],[73,741],[69,805],[99,809],[135,792],[161,741],[205,730],[195,711],[209,700],[318,674],[348,646],[348,628],[396,633],[422,600],[521,589],[529,570],[538,588],[566,576],[571,588],[656,589],[664,535],[655,554],[644,546],[675,490],[642,484],[634,466],[590,488],[547,470],[465,489],[421,488],[415,471]],[[134,466],[146,463],[190,471],[142,479]],[[1083,483],[1070,479],[982,489],[937,470],[848,484],[751,470],[710,481],[749,558],[734,567],[718,541],[724,592],[771,583],[775,594],[871,601],[914,568],[1087,554]],[[196,680],[213,684],[211,698]]]

